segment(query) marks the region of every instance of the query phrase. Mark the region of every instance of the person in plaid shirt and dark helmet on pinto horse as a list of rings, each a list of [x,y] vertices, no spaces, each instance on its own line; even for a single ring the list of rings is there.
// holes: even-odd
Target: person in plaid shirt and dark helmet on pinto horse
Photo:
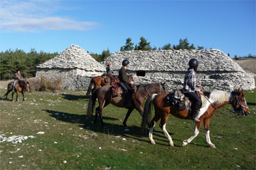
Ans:
[[[182,88],[182,91],[184,92],[184,95],[188,97],[188,99],[192,102],[191,105],[191,119],[194,122],[200,122],[199,118],[197,118],[197,113],[199,112],[199,107],[201,104],[201,99],[197,96],[195,93],[195,90],[199,91],[199,88],[201,85],[197,85],[197,78],[196,78],[196,71],[198,67],[198,61],[195,58],[190,59],[188,62],[189,68],[188,71],[186,71],[186,75],[184,78],[184,87]]]

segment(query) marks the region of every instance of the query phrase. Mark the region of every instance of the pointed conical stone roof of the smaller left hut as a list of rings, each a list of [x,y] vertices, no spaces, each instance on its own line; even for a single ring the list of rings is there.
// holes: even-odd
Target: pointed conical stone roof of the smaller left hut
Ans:
[[[105,71],[101,65],[82,48],[72,45],[54,58],[39,65],[40,69],[83,69],[86,71]]]

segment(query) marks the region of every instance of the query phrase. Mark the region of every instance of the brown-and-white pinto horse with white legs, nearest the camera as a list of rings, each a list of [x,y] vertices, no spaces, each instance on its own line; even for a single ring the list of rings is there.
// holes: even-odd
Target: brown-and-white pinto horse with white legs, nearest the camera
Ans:
[[[169,114],[181,119],[190,119],[190,112],[188,109],[184,109],[182,111],[177,111],[177,106],[171,106],[167,103],[167,95],[170,93],[165,92],[161,94],[154,94],[148,97],[147,101],[145,102],[144,106],[144,115],[143,121],[141,123],[142,130],[145,129],[146,126],[150,128],[149,138],[152,144],[156,144],[153,139],[153,128],[156,125],[156,122],[160,119],[160,128],[165,133],[167,139],[169,140],[169,145],[173,146],[173,140],[171,136],[166,130],[166,123],[169,117]],[[221,90],[214,90],[212,92],[203,92],[205,95],[206,105],[205,107],[201,108],[197,117],[200,116],[200,122],[195,123],[195,132],[193,135],[182,141],[182,146],[186,146],[190,143],[197,135],[199,134],[199,130],[201,125],[204,124],[205,132],[206,132],[206,141],[211,148],[216,148],[215,145],[210,140],[210,118],[214,116],[214,112],[216,109],[223,107],[224,105],[231,104],[232,107],[235,109],[236,112],[240,112],[241,115],[248,115],[250,114],[248,106],[246,104],[246,100],[243,95],[243,90],[240,88],[237,91],[232,92],[223,92]],[[155,116],[150,122],[151,112],[151,104],[153,103],[155,109]]]

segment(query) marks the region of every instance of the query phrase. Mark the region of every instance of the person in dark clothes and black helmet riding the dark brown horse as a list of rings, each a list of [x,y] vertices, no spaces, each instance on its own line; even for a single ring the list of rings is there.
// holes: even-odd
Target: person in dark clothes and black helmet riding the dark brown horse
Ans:
[[[126,73],[126,69],[129,65],[129,63],[130,62],[128,60],[124,60],[122,62],[123,67],[119,70],[119,75],[118,75],[118,78],[120,80],[119,84],[125,91],[124,95],[126,98],[126,108],[132,107],[132,103],[130,102],[132,90],[130,90],[130,87],[132,86],[132,84],[134,84],[134,82],[128,81],[128,77],[127,77],[127,73]]]

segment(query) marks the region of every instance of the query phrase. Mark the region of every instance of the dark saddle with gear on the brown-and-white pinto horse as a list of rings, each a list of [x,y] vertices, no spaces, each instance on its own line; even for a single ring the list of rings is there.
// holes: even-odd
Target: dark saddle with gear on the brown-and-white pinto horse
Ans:
[[[196,92],[196,94],[201,99],[201,105],[200,108],[205,107],[205,97],[201,95],[203,92]],[[179,89],[173,90],[173,92],[170,95],[167,95],[166,97],[167,103],[169,103],[171,106],[175,105],[177,107],[177,111],[182,111],[184,109],[190,110],[191,108],[191,101],[180,91]]]

